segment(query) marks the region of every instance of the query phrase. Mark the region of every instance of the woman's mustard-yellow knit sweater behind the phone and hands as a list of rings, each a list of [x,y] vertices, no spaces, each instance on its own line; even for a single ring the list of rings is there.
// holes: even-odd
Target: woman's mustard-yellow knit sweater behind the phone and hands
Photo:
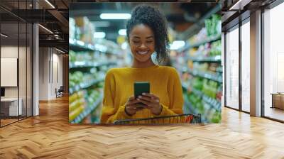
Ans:
[[[183,114],[182,87],[178,72],[173,67],[154,65],[146,68],[114,68],[107,72],[101,123],[114,123],[119,119],[151,118],[157,115],[149,109],[137,111],[133,116],[125,113],[125,104],[133,96],[134,82],[150,82],[150,93],[160,98],[163,106],[158,116]]]

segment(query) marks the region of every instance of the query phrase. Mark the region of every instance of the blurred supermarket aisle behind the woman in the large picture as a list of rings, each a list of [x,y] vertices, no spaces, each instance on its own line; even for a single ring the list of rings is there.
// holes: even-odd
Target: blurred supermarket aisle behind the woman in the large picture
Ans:
[[[104,75],[129,67],[125,22],[141,3],[74,3],[69,12],[70,123],[99,123]],[[168,20],[170,59],[180,73],[184,112],[219,123],[222,105],[221,4],[152,3]]]

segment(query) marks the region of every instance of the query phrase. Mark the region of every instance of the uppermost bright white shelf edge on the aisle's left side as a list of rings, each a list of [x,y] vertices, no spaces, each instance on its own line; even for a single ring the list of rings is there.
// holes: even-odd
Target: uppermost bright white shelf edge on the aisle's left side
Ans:
[[[94,51],[94,45],[86,44],[81,40],[69,39],[70,50],[74,51]]]

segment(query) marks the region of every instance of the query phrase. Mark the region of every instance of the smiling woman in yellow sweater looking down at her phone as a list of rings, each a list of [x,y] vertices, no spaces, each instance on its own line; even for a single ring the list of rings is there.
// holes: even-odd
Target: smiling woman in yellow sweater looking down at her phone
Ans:
[[[133,55],[131,67],[107,72],[101,123],[183,114],[182,87],[173,67],[155,65],[151,55],[163,62],[168,52],[165,17],[151,6],[137,6],[126,24]],[[133,97],[134,82],[150,82],[150,94]],[[138,104],[143,103],[143,104]]]

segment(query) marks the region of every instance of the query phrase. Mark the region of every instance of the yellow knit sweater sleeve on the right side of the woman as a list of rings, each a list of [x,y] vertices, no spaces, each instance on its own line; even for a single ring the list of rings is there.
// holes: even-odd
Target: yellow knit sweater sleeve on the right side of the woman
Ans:
[[[158,116],[172,116],[177,114],[183,114],[182,85],[178,72],[174,68],[171,68],[170,70],[170,79],[168,82],[168,96],[170,99],[170,105],[165,106],[164,104],[161,104],[163,109]]]

